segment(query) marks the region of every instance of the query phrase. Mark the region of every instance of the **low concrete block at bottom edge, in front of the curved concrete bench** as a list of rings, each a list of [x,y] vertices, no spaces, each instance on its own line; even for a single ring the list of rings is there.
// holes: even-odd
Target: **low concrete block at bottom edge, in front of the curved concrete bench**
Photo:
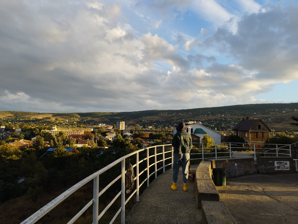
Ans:
[[[202,224],[237,224],[223,201],[202,201]]]

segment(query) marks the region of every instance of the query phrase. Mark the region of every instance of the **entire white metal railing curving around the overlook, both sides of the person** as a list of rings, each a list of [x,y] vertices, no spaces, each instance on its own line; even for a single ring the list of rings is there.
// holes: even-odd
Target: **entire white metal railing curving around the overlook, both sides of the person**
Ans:
[[[193,143],[195,144],[195,143]],[[201,143],[198,143],[201,144]],[[237,157],[237,156],[232,156],[232,149],[234,148],[238,148],[239,145],[242,145],[245,143],[214,143],[214,148],[209,147],[209,148],[204,148],[204,144],[201,144],[201,148],[197,148],[199,150],[201,150],[201,153],[191,153],[191,155],[201,155],[199,158],[191,158],[191,160],[195,160],[195,159],[199,159],[204,161],[204,159],[217,159],[217,158],[232,158],[232,157]],[[247,144],[246,144],[247,145]],[[254,153],[253,156],[246,156],[247,158],[254,158],[254,160],[256,160],[256,145],[265,145],[265,144],[249,144],[249,145],[253,145],[253,147],[246,147],[246,149],[251,149],[250,153]],[[276,144],[268,144],[268,145],[276,145]],[[279,144],[281,145],[281,144]],[[298,142],[291,144],[291,145],[298,145]],[[288,156],[291,156],[291,145],[289,146],[289,150],[290,153],[289,154],[285,154]],[[72,186],[71,188],[69,188],[68,190],[66,190],[65,192],[63,192],[61,195],[59,195],[57,198],[55,198],[54,200],[52,200],[50,203],[46,204],[44,207],[42,207],[41,209],[39,209],[37,212],[35,212],[34,214],[32,214],[30,217],[28,217],[26,220],[24,220],[23,222],[21,222],[21,224],[33,224],[36,223],[39,219],[41,219],[45,214],[47,214],[48,212],[50,212],[52,209],[54,209],[58,204],[60,204],[63,200],[65,200],[67,197],[69,197],[72,193],[74,193],[77,189],[79,189],[80,187],[84,186],[86,183],[88,183],[89,181],[93,180],[93,199],[91,201],[89,201],[89,203],[87,203],[83,209],[80,210],[80,212],[78,212],[69,222],[68,224],[74,223],[75,220],[77,220],[78,217],[80,217],[80,215],[83,214],[83,212],[85,212],[92,204],[93,204],[93,223],[98,223],[98,220],[103,216],[104,212],[111,206],[111,204],[121,195],[121,207],[119,208],[119,210],[116,212],[115,216],[113,217],[113,219],[111,220],[111,223],[114,222],[114,220],[117,218],[117,216],[120,214],[121,212],[121,223],[125,223],[125,205],[128,202],[128,200],[130,200],[130,198],[136,194],[136,201],[139,201],[139,187],[142,186],[142,184],[145,183],[145,181],[147,180],[147,187],[149,186],[149,177],[151,175],[153,175],[155,173],[155,178],[157,177],[157,171],[163,169],[163,172],[165,172],[165,167],[172,165],[173,168],[173,147],[171,146],[171,150],[170,151],[164,151],[164,146],[171,146],[171,144],[167,144],[167,145],[156,145],[156,146],[150,146],[144,149],[140,149],[137,150],[135,152],[129,153],[128,155],[122,156],[121,158],[117,159],[116,161],[112,162],[111,164],[107,165],[106,167],[98,170],[97,172],[91,174],[90,176],[86,177],[85,179],[83,179],[82,181],[78,182],[77,184],[75,184],[74,186]],[[284,145],[286,146],[286,145]],[[157,147],[162,147],[162,153],[156,153],[156,148]],[[154,148],[154,155],[149,156],[149,149],[153,149]],[[218,148],[227,148],[229,149],[229,151],[225,151],[225,152],[218,152]],[[241,147],[239,147],[241,148]],[[213,150],[215,149],[215,152],[208,152],[208,150]],[[277,146],[276,148],[270,149],[270,150],[278,150]],[[270,151],[268,150],[268,151]],[[142,151],[146,151],[147,153],[147,157],[140,160],[139,161],[139,153]],[[171,152],[171,156],[165,158],[165,153],[170,153]],[[266,151],[267,152],[267,151]],[[228,156],[220,156],[221,153],[229,153]],[[244,152],[245,153],[245,152]],[[260,152],[257,152],[260,153]],[[265,152],[263,152],[264,155],[266,155]],[[136,177],[134,180],[136,180],[136,189],[134,190],[134,192],[131,193],[131,195],[128,197],[127,200],[125,200],[125,159],[129,158],[130,156],[133,156],[136,154],[136,164],[133,165],[133,167],[136,167]],[[208,154],[215,154],[215,157],[208,157]],[[280,153],[282,154],[282,153]],[[284,154],[284,153],[283,153]],[[162,159],[157,161],[157,157],[158,155],[162,155]],[[278,156],[278,153],[277,153]],[[192,156],[193,157],[193,156]],[[196,157],[196,156],[194,156]],[[208,157],[208,158],[206,158]],[[238,156],[240,157],[240,156]],[[242,157],[242,156],[241,156]],[[152,164],[149,164],[149,158],[154,158],[154,162]],[[165,160],[171,159],[171,162],[168,164],[165,164]],[[147,167],[142,170],[139,171],[139,164],[141,162],[147,161]],[[296,164],[296,171],[297,171],[297,159],[294,159],[295,164]],[[113,181],[111,181],[111,183],[109,183],[106,187],[104,187],[102,189],[101,192],[99,192],[99,175],[104,173],[105,171],[109,170],[111,167],[114,167],[115,165],[117,165],[118,163],[121,162],[121,174],[119,174],[119,176],[117,176]],[[157,167],[157,163],[162,162],[162,165],[160,165],[160,167]],[[154,172],[153,173],[149,173],[149,167],[154,165]],[[147,178],[145,178],[145,180],[142,183],[139,183],[139,176],[142,173],[145,173],[145,171],[147,171]],[[103,210],[103,212],[101,212],[101,214],[98,214],[98,201],[99,201],[99,197],[112,185],[114,184],[117,180],[119,180],[121,178],[121,191],[116,195],[116,197],[108,204],[108,206]]]

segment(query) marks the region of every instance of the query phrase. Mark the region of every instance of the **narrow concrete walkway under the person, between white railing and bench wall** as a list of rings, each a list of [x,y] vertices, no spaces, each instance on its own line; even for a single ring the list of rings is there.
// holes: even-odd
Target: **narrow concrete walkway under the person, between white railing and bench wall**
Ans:
[[[191,165],[196,171],[198,165]],[[201,210],[195,204],[194,183],[188,182],[183,191],[182,169],[179,170],[177,190],[172,190],[172,169],[152,181],[125,218],[128,224],[201,223]]]

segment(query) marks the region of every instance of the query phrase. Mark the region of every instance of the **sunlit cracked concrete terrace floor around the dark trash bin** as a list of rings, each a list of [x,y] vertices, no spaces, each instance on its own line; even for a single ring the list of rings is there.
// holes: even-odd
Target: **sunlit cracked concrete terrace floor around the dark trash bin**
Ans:
[[[238,224],[298,222],[298,173],[242,176],[216,188]]]

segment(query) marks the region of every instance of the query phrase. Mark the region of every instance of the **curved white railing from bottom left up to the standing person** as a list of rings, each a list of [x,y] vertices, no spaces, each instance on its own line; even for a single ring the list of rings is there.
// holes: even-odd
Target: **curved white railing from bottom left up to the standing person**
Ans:
[[[69,222],[70,223],[74,223],[75,220],[77,220],[78,217],[80,217],[81,214],[83,214],[83,212],[85,212],[92,204],[93,204],[93,223],[98,223],[98,220],[100,219],[100,217],[103,215],[103,213],[111,206],[111,204],[119,197],[119,195],[121,195],[121,208],[118,210],[118,212],[115,214],[113,220],[111,221],[111,223],[113,223],[113,221],[116,219],[117,215],[121,212],[121,223],[125,223],[125,204],[128,202],[128,200],[136,193],[136,197],[137,197],[137,201],[139,200],[139,187],[147,180],[147,186],[149,186],[149,177],[155,173],[155,176],[157,176],[157,166],[156,163],[160,162],[160,161],[156,161],[156,148],[157,147],[162,147],[162,155],[163,155],[163,172],[165,172],[165,166],[168,165],[172,165],[173,164],[173,147],[171,151],[167,151],[164,152],[164,146],[171,146],[171,144],[167,144],[167,145],[156,145],[156,146],[150,146],[147,148],[143,148],[140,150],[137,150],[135,152],[129,153],[128,155],[122,156],[121,158],[117,159],[116,161],[112,162],[111,164],[107,165],[106,167],[100,169],[99,171],[91,174],[90,176],[86,177],[85,179],[83,179],[82,181],[78,182],[77,184],[75,184],[74,186],[72,186],[71,188],[69,188],[68,190],[66,190],[65,192],[63,192],[61,195],[59,195],[57,198],[55,198],[54,200],[52,200],[50,203],[46,204],[44,207],[42,207],[41,209],[39,209],[37,212],[35,212],[34,214],[32,214],[30,217],[28,217],[26,220],[24,220],[23,222],[21,222],[21,224],[33,224],[36,223],[38,220],[40,220],[42,217],[44,217],[44,215],[46,215],[48,212],[50,212],[52,209],[54,209],[58,204],[60,204],[63,200],[65,200],[67,197],[69,197],[72,193],[74,193],[77,189],[79,189],[80,187],[84,186],[86,183],[88,183],[89,181],[91,181],[92,179],[94,180],[94,185],[93,185],[93,189],[94,189],[94,193],[93,193],[93,199],[86,204],[86,206],[80,211],[78,212]],[[153,164],[155,164],[155,171],[151,174],[149,174],[149,158],[153,157],[153,156],[149,156],[149,149],[154,148],[154,158],[155,161]],[[145,179],[145,181],[143,181],[143,183],[139,184],[139,163],[142,161],[138,161],[139,160],[139,152],[142,151],[147,151],[147,158],[143,159],[147,160],[147,167],[145,168],[145,170],[147,170],[147,178]],[[164,153],[169,153],[172,152],[171,157],[164,157]],[[135,179],[137,180],[137,189],[130,195],[130,197],[125,201],[125,159],[136,155],[136,170],[137,170],[137,174]],[[159,153],[160,154],[160,153]],[[166,159],[170,159],[172,158],[171,163],[169,164],[165,164],[164,160]],[[108,184],[101,192],[99,192],[99,175],[104,173],[106,170],[110,169],[111,167],[115,166],[116,164],[118,164],[119,162],[121,162],[121,174],[114,180],[112,181],[110,184]],[[150,164],[152,165],[152,164]],[[145,171],[144,170],[144,171]],[[112,200],[112,202],[103,210],[103,212],[98,215],[98,201],[99,201],[99,196],[105,192],[106,189],[108,189],[108,187],[110,187],[112,184],[114,184],[118,179],[121,178],[121,192],[118,193],[118,195]],[[156,177],[155,177],[156,178]]]

